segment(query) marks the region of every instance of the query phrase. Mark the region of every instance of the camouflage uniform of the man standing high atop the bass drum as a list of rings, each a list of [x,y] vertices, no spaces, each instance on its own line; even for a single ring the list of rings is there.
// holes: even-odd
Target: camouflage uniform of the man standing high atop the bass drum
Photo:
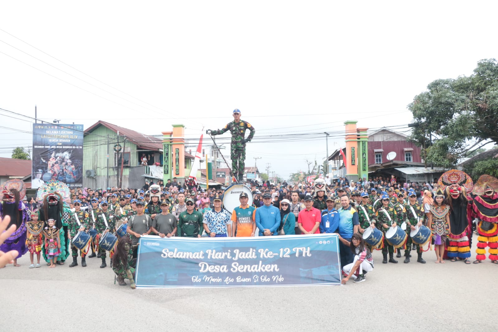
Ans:
[[[244,167],[246,162],[246,142],[244,141],[244,136],[246,135],[246,129],[250,130],[248,141],[252,139],[256,130],[247,121],[239,120],[239,123],[232,121],[228,123],[221,130],[212,130],[211,135],[221,135],[224,132],[230,130],[232,133],[232,146],[230,148],[230,158],[232,159],[232,172],[233,175],[239,179],[244,176]]]

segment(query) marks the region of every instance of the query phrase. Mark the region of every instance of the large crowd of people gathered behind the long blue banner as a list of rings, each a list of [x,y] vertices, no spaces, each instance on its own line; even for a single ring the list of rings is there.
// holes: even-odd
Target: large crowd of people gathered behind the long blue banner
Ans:
[[[113,269],[118,275],[120,285],[126,285],[126,271],[132,271],[137,256],[139,238],[143,235],[160,237],[224,237],[224,236],[276,236],[306,235],[315,233],[338,234],[340,264],[343,270],[343,283],[350,278],[354,282],[365,281],[365,274],[373,268],[372,250],[382,250],[382,263],[398,263],[394,259],[401,257],[402,247],[394,247],[385,237],[390,227],[406,224],[406,241],[404,263],[410,262],[411,251],[416,250],[417,262],[425,263],[420,245],[412,243],[410,231],[422,224],[432,231],[432,243],[435,245],[435,263],[445,263],[445,249],[452,261],[464,260],[470,263],[470,244],[467,252],[460,249],[465,245],[448,243],[450,228],[450,204],[445,200],[445,193],[438,189],[436,183],[397,183],[394,176],[389,179],[360,179],[357,183],[339,178],[335,181],[327,175],[314,183],[286,182],[272,185],[257,181],[247,183],[252,195],[240,194],[240,206],[233,211],[223,208],[223,189],[202,189],[191,180],[181,186],[176,178],[154,184],[146,182],[142,188],[116,188],[107,190],[84,188],[71,190],[70,213],[67,238],[70,240],[79,231],[96,229],[92,236],[92,253],[87,256],[83,250],[71,246],[73,262],[78,265],[78,252],[82,257],[82,266],[86,266],[86,257],[98,256],[102,259],[101,268],[107,266],[106,250],[98,246],[99,237],[107,232],[123,235],[120,229],[126,229],[126,248],[123,246],[124,258],[113,262]],[[33,199],[24,202],[31,207],[30,221],[37,222],[39,206]],[[110,226],[110,225],[113,226]],[[365,243],[363,233],[369,228],[377,228],[384,235],[379,247]],[[31,265],[39,267],[41,243],[45,243],[44,254],[50,262],[48,265],[64,264],[57,260],[60,253],[59,229],[48,221],[48,228],[41,233],[30,233],[33,227],[28,225],[27,244]],[[43,238],[40,238],[43,235]],[[120,236],[121,237],[121,236]],[[470,240],[467,239],[469,242]],[[28,243],[29,242],[29,243]],[[451,249],[455,247],[454,251]],[[465,249],[464,249],[465,250]],[[34,255],[37,264],[34,266]],[[389,255],[389,258],[387,258]],[[479,260],[478,260],[479,261]],[[480,262],[480,261],[479,261]],[[494,261],[495,262],[495,261]]]

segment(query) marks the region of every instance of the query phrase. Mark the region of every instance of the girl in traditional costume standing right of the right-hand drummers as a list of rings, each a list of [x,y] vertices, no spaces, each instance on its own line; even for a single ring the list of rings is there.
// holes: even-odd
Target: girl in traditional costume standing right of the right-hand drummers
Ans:
[[[436,261],[434,263],[444,263],[443,255],[446,239],[451,232],[450,206],[443,204],[443,201],[444,193],[441,189],[438,189],[428,216],[429,226],[432,230],[432,240],[434,241],[434,251],[436,252]]]

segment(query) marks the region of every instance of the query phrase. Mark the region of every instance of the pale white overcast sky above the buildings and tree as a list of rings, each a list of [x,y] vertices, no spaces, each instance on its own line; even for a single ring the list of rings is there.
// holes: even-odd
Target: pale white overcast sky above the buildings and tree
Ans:
[[[287,178],[325,157],[310,133],[330,132],[331,154],[345,120],[404,132],[427,84],[498,54],[497,1],[336,2],[3,1],[0,108],[150,135],[183,123],[193,139],[237,108],[256,129],[246,165]],[[5,115],[20,116],[0,111],[10,157],[33,121]]]

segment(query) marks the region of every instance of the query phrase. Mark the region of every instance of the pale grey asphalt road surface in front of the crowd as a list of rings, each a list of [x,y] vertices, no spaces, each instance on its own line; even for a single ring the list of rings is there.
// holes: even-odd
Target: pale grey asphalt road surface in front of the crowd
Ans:
[[[132,290],[109,258],[29,269],[26,254],[0,269],[0,331],[496,331],[498,265],[423,257],[382,264],[374,251],[367,280],[345,286]]]

